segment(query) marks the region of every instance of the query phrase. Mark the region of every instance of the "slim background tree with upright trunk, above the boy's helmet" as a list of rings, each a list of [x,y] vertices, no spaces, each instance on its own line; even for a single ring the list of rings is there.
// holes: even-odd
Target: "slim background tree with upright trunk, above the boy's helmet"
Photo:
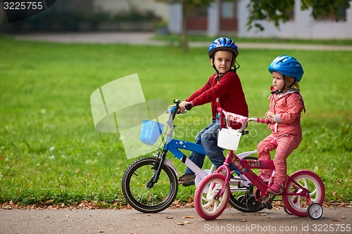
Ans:
[[[187,51],[187,18],[189,13],[194,11],[199,6],[209,6],[209,4],[217,0],[156,0],[168,4],[182,4],[182,49]]]

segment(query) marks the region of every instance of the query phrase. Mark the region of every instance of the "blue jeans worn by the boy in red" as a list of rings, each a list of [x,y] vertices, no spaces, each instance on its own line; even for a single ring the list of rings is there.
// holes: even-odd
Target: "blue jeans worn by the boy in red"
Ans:
[[[206,155],[215,166],[220,167],[225,157],[222,153],[222,148],[218,147],[218,132],[221,129],[219,119],[213,120],[205,129],[201,130],[196,136],[196,144],[203,145],[206,150]],[[199,168],[203,167],[204,159],[206,155],[202,155],[196,152],[191,152],[189,159],[192,160]],[[194,174],[191,169],[187,167],[184,174]]]

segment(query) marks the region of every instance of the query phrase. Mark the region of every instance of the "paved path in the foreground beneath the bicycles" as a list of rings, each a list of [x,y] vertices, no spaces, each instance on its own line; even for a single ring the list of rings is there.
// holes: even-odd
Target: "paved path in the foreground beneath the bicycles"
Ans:
[[[205,221],[194,208],[158,214],[134,209],[0,209],[0,233],[352,233],[351,215],[352,207],[325,207],[318,220],[289,215],[283,209],[242,213],[228,208],[218,219]]]

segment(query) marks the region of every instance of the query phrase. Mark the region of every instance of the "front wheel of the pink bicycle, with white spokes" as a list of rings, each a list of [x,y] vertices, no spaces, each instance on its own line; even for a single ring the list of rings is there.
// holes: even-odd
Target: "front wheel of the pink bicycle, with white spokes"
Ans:
[[[224,183],[225,176],[214,173],[204,177],[196,187],[194,207],[202,219],[216,219],[226,209],[230,197],[230,186],[226,186],[224,193],[218,200],[214,199],[214,196]],[[204,197],[204,195],[206,196]]]

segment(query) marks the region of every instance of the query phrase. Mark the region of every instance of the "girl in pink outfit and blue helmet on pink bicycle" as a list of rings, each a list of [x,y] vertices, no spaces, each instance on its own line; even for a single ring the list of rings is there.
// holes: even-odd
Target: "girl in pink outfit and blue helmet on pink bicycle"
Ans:
[[[270,160],[270,151],[275,150],[274,183],[268,192],[279,195],[287,182],[287,157],[302,141],[301,112],[304,107],[298,82],[303,77],[301,63],[291,56],[279,56],[268,68],[272,73],[270,107],[265,118],[270,120],[272,134],[258,144],[258,159]],[[261,170],[260,176],[268,182],[272,171]]]

